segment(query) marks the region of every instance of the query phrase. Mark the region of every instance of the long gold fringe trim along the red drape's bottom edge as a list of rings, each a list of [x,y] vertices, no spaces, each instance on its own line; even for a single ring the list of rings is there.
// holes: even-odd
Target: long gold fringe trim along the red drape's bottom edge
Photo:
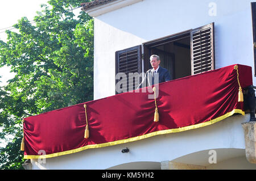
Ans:
[[[181,128],[174,128],[174,129],[166,129],[162,131],[156,131],[148,134],[143,134],[141,136],[137,137],[132,137],[132,138],[127,138],[124,140],[117,140],[117,141],[112,141],[112,142],[106,142],[104,144],[96,144],[96,145],[86,145],[81,148],[73,149],[73,150],[68,150],[68,151],[62,151],[59,153],[52,153],[52,154],[47,154],[47,155],[24,155],[24,159],[34,159],[34,158],[52,158],[52,157],[58,157],[61,155],[66,155],[66,154],[72,154],[72,153],[77,153],[79,151],[83,151],[86,149],[92,149],[92,148],[102,148],[105,146],[112,146],[112,145],[118,145],[118,144],[124,144],[127,142],[132,142],[132,141],[138,141],[142,140],[144,138],[156,136],[156,135],[161,135],[161,134],[168,134],[168,133],[177,133],[177,132],[183,132],[183,131],[188,131],[191,129],[196,129],[196,128],[201,128],[205,127],[214,123],[217,123],[218,121],[224,120],[226,117],[232,116],[234,113],[241,113],[243,116],[245,115],[245,112],[242,110],[235,109],[231,112],[226,113],[225,115],[222,115],[220,117],[217,117],[216,119],[204,122],[204,123],[199,123],[195,125],[189,125],[187,127],[181,127]]]

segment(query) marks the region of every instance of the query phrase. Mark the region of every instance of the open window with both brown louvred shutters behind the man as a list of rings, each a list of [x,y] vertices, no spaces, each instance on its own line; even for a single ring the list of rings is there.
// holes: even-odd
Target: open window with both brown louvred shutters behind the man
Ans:
[[[143,56],[140,55],[142,48]],[[169,70],[172,79],[214,70],[214,23],[115,52],[116,74],[146,72],[151,69],[151,54],[158,54],[160,66]],[[123,65],[127,69],[123,69]],[[127,80],[127,85],[129,83]],[[134,88],[136,85],[138,81],[134,82]]]

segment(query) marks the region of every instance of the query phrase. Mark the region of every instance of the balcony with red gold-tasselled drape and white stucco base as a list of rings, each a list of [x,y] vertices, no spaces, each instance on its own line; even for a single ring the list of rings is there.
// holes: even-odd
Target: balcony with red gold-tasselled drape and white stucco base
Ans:
[[[32,159],[34,169],[108,169],[132,162],[158,162],[164,168],[166,161],[184,163],[185,155],[212,149],[241,156],[241,123],[249,115],[244,116],[238,94],[240,86],[252,85],[252,74],[249,66],[237,66],[238,71],[230,65],[160,83],[155,91],[145,87],[27,117],[24,158]],[[122,153],[126,147],[129,153]],[[231,158],[224,152],[218,162]],[[45,158],[47,163],[36,161]],[[210,164],[185,160],[204,169]]]

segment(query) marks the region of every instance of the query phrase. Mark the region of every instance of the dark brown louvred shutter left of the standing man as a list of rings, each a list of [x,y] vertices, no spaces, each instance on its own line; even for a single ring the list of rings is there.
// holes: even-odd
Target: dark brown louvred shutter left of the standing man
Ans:
[[[141,45],[115,52],[115,75],[117,73],[126,74],[127,91],[130,91],[129,87],[133,87],[133,90],[135,90],[139,84],[138,77],[133,78],[133,81],[130,80],[129,82],[129,73],[141,74],[141,57]],[[115,83],[117,82],[118,80]]]

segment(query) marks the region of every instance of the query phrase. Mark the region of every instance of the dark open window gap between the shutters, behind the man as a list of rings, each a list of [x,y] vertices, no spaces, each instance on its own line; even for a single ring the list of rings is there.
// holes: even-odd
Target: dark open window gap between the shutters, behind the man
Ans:
[[[162,41],[144,44],[144,71],[151,69],[149,58],[152,54],[160,57],[160,66],[166,68],[172,79],[191,75],[191,47],[189,33],[166,37]]]

